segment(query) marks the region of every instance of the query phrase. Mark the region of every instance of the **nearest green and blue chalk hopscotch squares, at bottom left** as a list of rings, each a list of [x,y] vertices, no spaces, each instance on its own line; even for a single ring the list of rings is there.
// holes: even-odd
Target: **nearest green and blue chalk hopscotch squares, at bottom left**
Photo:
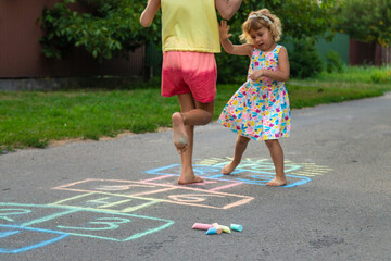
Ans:
[[[128,241],[165,229],[174,221],[64,206],[0,202],[0,253],[18,253],[67,236]]]

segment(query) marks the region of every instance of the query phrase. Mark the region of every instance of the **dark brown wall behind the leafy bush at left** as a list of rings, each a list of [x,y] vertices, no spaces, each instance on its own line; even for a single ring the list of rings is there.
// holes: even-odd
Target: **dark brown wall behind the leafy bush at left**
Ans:
[[[0,1],[0,78],[131,76],[142,74],[144,49],[99,63],[84,50],[62,60],[47,59],[41,52],[42,36],[37,18],[45,7],[59,0]],[[76,7],[77,9],[77,7]]]

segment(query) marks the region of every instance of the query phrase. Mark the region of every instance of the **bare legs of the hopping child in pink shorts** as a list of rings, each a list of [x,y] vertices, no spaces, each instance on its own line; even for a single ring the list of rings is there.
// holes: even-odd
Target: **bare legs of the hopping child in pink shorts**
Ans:
[[[193,136],[194,125],[205,125],[211,122],[214,102],[200,103],[193,100],[191,94],[178,95],[181,113],[176,112],[173,114],[173,128],[174,128],[174,144],[176,140],[187,140],[187,145],[178,148],[181,158],[181,173],[178,178],[179,184],[199,183],[203,179],[194,175],[192,169],[192,151],[193,151]]]

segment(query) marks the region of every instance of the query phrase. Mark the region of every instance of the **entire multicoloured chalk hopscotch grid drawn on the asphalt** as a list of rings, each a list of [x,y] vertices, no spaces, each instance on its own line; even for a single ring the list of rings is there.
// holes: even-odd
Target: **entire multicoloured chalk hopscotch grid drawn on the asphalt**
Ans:
[[[88,178],[58,186],[53,189],[78,195],[49,204],[0,202],[0,253],[20,253],[70,236],[111,241],[138,239],[172,226],[174,221],[130,212],[159,203],[230,209],[249,203],[253,197],[222,190],[265,185],[275,176],[274,165],[266,159],[244,159],[231,175],[220,174],[230,160],[212,158],[197,162],[194,173],[204,177],[198,184],[177,185],[181,166],[173,164],[147,171],[155,176],[142,181]],[[294,187],[332,170],[286,161],[285,171],[285,187]]]

